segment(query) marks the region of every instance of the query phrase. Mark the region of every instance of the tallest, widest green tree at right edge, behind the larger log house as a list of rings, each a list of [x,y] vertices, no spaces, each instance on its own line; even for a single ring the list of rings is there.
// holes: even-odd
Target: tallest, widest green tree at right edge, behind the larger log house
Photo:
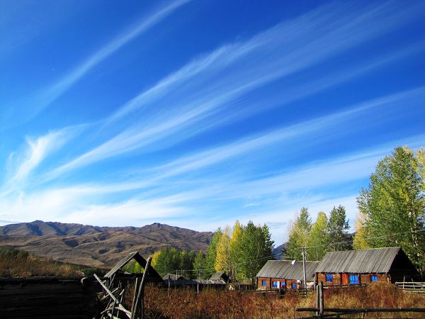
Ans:
[[[358,209],[370,247],[400,246],[425,274],[424,150],[396,147],[378,162]]]

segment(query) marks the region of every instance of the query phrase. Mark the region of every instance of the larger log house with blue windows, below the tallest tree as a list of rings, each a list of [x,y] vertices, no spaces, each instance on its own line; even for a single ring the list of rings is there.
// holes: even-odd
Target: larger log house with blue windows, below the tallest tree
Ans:
[[[400,247],[327,252],[316,269],[324,286],[406,281],[419,276]]]

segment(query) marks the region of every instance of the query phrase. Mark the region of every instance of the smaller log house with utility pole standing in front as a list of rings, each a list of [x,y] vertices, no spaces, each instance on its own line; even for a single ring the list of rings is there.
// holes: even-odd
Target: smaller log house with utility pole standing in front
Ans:
[[[307,288],[314,288],[314,272],[319,262],[305,262]],[[258,290],[304,288],[302,262],[290,260],[268,260],[256,275]]]

